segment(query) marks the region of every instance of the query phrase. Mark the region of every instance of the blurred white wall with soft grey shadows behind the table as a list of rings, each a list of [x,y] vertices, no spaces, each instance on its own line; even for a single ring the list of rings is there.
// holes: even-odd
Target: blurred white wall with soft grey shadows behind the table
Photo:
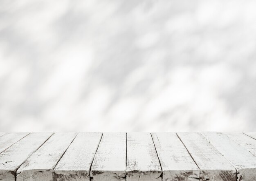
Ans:
[[[255,131],[255,7],[0,0],[0,131]]]

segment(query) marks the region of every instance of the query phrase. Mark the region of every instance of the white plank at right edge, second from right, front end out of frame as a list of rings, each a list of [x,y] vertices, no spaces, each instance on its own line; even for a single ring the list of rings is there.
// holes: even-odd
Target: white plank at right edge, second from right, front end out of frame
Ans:
[[[254,156],[256,156],[256,140],[243,134],[242,132],[240,133],[235,133],[235,132],[225,132],[225,135],[227,135],[230,139],[233,139],[236,141],[238,144],[243,146],[246,150],[251,152]]]

